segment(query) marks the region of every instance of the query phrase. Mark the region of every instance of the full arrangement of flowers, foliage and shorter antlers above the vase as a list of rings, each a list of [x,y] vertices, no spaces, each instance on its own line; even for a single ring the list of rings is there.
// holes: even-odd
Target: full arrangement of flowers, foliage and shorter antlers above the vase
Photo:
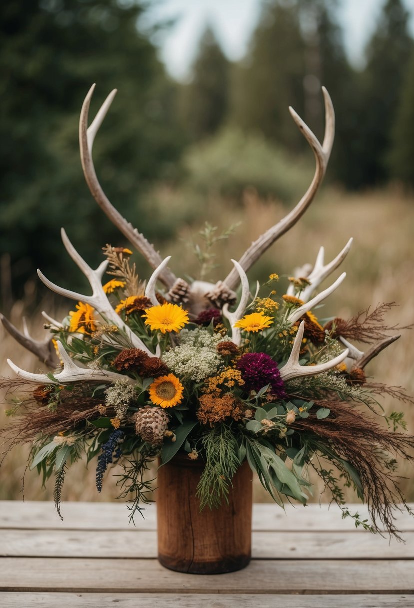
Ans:
[[[350,242],[328,264],[321,248],[313,268],[289,278],[287,293],[279,292],[276,274],[251,291],[249,264],[233,261],[236,295],[223,283],[189,288],[181,279],[157,289],[160,279],[168,285],[169,258],[144,283],[122,247],[104,247],[106,259],[93,271],[64,232],[63,241],[93,295],[59,288],[40,273],[78,303],[63,321],[46,316],[53,349],[43,359],[53,371],[33,374],[10,362],[17,379],[2,381],[13,395],[13,444],[32,442],[30,468],[44,482],[54,475],[59,514],[67,468],[82,457],[97,462],[98,492],[109,466],[121,464],[120,494],[133,517],[149,500],[150,463],[159,457],[163,466],[181,454],[203,463],[200,510],[226,501],[244,461],[279,505],[307,502],[313,469],[344,516],[371,531],[379,519],[397,534],[393,510],[408,507],[395,454],[413,461],[414,438],[398,432],[401,413],[385,415],[378,399],[413,401],[364,371],[398,337],[389,331],[399,328],[384,322],[392,304],[323,319],[321,304],[345,274],[314,295]],[[363,352],[353,342],[369,347]],[[349,513],[344,486],[367,502],[372,522]]]

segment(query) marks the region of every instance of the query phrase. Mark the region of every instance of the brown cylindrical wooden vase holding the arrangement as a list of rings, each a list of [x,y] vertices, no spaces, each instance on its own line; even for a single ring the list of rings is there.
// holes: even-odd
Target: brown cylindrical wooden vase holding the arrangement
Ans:
[[[178,455],[158,470],[160,564],[191,574],[222,574],[246,567],[251,556],[252,474],[244,463],[232,479],[228,505],[200,513],[195,488],[203,462]]]

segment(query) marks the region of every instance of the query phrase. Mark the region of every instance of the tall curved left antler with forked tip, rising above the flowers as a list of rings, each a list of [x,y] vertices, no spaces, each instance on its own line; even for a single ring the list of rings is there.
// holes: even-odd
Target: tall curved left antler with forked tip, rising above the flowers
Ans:
[[[160,255],[157,251],[155,251],[154,247],[146,240],[146,238],[140,234],[137,229],[134,229],[134,227],[127,222],[123,216],[121,216],[115,207],[112,206],[98,181],[92,159],[93,141],[95,140],[95,136],[98,133],[103,119],[106,116],[115,95],[117,94],[117,89],[114,89],[114,91],[108,95],[105,102],[101,106],[100,111],[93,120],[92,125],[90,125],[88,129],[87,121],[90,100],[92,99],[94,90],[95,85],[92,85],[83,102],[79,124],[81,162],[86,183],[93,198],[95,201],[97,201],[103,212],[106,213],[112,224],[114,224],[114,226],[116,226],[123,233],[124,237],[126,237],[127,240],[129,240],[130,243],[132,243],[132,245],[141,252],[144,258],[148,261],[149,265],[156,269],[158,266],[160,266],[162,261]],[[160,281],[162,281],[169,289],[172,287],[172,285],[174,285],[176,280],[175,275],[172,274],[172,272],[167,268],[163,269],[163,272],[161,272],[159,278]]]

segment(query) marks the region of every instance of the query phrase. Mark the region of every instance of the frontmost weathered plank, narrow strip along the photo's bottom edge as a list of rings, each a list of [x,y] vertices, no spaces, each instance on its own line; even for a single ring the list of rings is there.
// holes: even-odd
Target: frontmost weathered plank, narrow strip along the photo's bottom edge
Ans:
[[[346,604],[344,603],[344,600]],[[3,593],[0,596],[4,608],[101,608],[121,604],[122,608],[414,608],[414,598],[409,595],[185,595],[146,593]]]

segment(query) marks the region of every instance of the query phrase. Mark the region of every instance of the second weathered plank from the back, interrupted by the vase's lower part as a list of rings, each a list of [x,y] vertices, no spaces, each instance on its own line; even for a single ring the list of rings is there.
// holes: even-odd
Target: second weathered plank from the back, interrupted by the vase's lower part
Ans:
[[[414,559],[414,532],[406,544],[354,532],[254,532],[256,559]],[[157,558],[157,533],[134,531],[1,530],[0,556],[39,558]]]

